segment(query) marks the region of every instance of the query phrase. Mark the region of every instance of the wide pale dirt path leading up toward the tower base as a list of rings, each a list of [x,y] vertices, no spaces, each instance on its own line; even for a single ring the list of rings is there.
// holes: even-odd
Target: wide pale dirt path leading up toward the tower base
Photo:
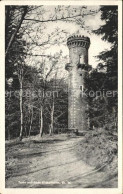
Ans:
[[[13,158],[17,161],[13,166],[13,175],[6,181],[6,187],[84,188],[90,184],[94,187],[95,181],[98,183],[98,178],[104,173],[96,174],[92,167],[79,158],[75,150],[80,141],[82,137],[48,143],[45,146],[35,141],[35,147],[29,144],[28,148],[15,150]],[[102,182],[103,179],[105,177],[101,178]]]

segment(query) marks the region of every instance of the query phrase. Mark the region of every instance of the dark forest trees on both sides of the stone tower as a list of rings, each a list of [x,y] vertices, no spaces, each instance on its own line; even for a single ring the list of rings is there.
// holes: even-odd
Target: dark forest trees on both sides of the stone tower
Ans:
[[[104,6],[100,10],[105,24],[91,33],[101,34],[102,39],[110,42],[112,47],[96,56],[101,62],[89,74],[87,87],[93,91],[117,91],[117,7]],[[37,17],[44,17],[43,6],[6,6],[6,139],[22,139],[22,136],[34,133],[42,136],[43,132],[51,134],[67,129],[67,76],[58,75],[59,64],[65,61],[66,56],[62,55],[62,51],[37,56],[33,52],[38,47],[45,49],[51,44],[65,44],[69,35],[55,29],[45,37],[43,30],[45,33],[46,26],[43,23],[63,20],[82,25],[84,19],[80,18],[78,8],[58,6],[52,16],[42,21],[37,21],[35,17],[30,19],[35,11]],[[62,18],[63,14],[66,17]],[[86,14],[96,13],[86,10],[81,14],[84,18]],[[33,23],[37,26],[36,32],[31,29]],[[104,68],[106,72],[98,71]],[[95,123],[95,126],[110,130],[117,128],[117,95],[113,98],[91,98],[89,102],[90,125]]]

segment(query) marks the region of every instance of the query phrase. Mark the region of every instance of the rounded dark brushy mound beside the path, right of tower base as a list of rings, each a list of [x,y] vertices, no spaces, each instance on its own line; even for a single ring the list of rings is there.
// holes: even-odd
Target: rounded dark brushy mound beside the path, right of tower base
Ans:
[[[77,151],[82,153],[87,164],[99,167],[116,158],[117,149],[117,134],[98,128],[86,133]]]

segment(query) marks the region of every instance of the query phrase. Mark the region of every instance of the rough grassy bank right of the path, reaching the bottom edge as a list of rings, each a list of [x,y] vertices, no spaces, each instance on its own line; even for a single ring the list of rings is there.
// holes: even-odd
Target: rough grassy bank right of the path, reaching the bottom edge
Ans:
[[[102,128],[90,130],[81,141],[76,153],[81,159],[95,167],[95,174],[88,175],[95,183],[88,185],[89,188],[114,187],[118,184],[118,138],[117,133],[110,133]],[[97,171],[97,172],[96,172]],[[100,173],[99,173],[100,172]],[[100,181],[101,180],[101,181]]]

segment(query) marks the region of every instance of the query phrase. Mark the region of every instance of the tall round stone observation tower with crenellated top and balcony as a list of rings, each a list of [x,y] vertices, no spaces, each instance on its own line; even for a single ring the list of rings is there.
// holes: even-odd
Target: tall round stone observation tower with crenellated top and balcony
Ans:
[[[67,39],[69,61],[65,69],[68,78],[68,129],[85,131],[88,128],[88,103],[83,95],[85,78],[91,66],[88,65],[88,49],[90,39],[84,36],[71,36]]]

